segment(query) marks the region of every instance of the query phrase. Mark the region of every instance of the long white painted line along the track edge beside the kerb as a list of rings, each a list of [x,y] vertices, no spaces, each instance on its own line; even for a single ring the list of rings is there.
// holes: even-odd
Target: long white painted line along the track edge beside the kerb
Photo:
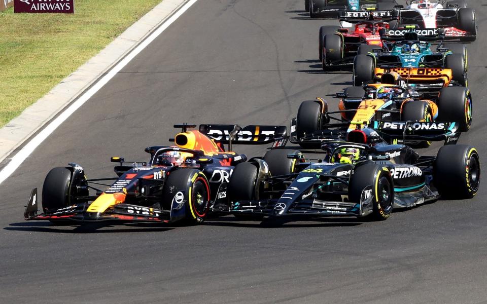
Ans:
[[[81,95],[73,104],[68,106],[55,120],[48,124],[39,134],[32,138],[0,171],[0,183],[4,182],[17,168],[27,159],[30,154],[57,129],[69,116],[71,116],[80,106],[90,99],[96,92],[105,86],[122,68],[124,68],[135,56],[142,52],[151,42],[153,42],[166,28],[175,22],[184,12],[186,12],[198,0],[190,0],[181,7],[174,15],[161,24],[146,40],[133,49],[124,59],[115,65],[110,72],[102,77],[93,87]]]

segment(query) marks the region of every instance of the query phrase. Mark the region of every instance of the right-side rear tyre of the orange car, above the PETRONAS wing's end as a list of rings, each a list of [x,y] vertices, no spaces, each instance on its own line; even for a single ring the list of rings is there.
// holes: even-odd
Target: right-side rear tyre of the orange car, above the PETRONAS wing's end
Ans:
[[[448,87],[440,91],[438,98],[438,122],[454,122],[460,132],[466,132],[472,125],[472,95],[464,87]]]

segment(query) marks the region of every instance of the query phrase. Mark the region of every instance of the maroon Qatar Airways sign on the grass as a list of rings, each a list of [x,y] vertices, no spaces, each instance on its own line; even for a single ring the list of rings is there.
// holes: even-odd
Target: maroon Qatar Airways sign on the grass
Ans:
[[[14,13],[74,14],[75,1],[74,0],[14,0]]]

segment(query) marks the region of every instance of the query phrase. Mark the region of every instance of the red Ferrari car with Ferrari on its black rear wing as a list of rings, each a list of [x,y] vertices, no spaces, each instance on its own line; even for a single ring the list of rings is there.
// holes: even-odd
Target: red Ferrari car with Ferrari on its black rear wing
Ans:
[[[323,69],[351,65],[361,45],[382,47],[381,29],[395,27],[396,11],[343,12],[340,26],[323,25],[318,36],[318,52]],[[353,30],[344,27],[355,23]]]

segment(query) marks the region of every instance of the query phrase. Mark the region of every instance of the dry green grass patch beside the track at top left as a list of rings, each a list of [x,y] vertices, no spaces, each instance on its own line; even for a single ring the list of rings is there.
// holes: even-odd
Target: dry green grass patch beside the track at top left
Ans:
[[[76,0],[74,15],[0,13],[0,126],[160,2]]]

